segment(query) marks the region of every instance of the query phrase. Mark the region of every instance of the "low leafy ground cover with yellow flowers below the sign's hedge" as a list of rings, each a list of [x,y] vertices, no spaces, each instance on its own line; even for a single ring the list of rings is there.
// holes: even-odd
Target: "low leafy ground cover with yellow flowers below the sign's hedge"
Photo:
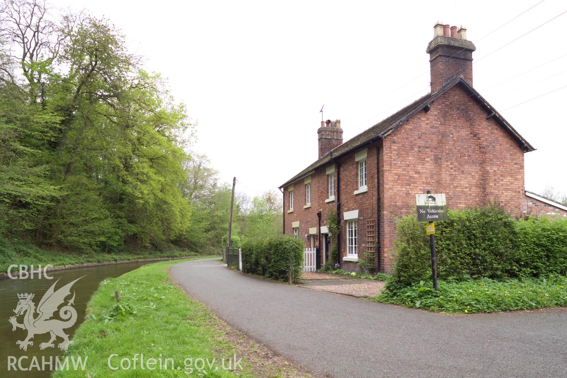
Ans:
[[[431,282],[412,286],[394,282],[373,300],[423,308],[441,313],[496,312],[567,306],[567,277],[549,275],[530,279],[470,279],[439,281],[438,291]]]

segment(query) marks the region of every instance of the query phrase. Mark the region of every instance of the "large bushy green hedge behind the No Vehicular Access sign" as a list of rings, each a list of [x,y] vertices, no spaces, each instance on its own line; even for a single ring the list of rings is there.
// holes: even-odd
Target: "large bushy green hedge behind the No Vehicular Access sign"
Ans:
[[[394,281],[431,278],[429,236],[416,215],[397,221]],[[513,219],[496,206],[448,212],[435,223],[437,275],[527,278],[567,273],[567,219]]]

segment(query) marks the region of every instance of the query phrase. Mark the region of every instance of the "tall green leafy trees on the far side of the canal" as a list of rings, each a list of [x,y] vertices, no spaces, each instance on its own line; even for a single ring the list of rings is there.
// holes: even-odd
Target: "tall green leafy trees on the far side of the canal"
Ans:
[[[0,237],[83,251],[220,252],[231,187],[195,125],[107,19],[0,6]],[[237,196],[232,235],[281,233],[281,198]]]

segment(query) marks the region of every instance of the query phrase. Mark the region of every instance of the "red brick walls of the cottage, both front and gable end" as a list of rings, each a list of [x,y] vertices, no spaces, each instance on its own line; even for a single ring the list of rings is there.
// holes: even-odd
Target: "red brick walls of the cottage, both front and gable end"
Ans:
[[[339,251],[341,266],[347,270],[355,269],[356,264],[342,261],[346,256],[344,212],[358,210],[359,258],[367,250],[374,250],[368,245],[367,228],[372,227],[369,221],[370,224],[376,222],[376,146],[364,148],[367,148],[368,185],[365,193],[353,194],[358,189],[358,163],[354,155],[359,150],[337,161],[340,164],[342,227]],[[486,119],[486,112],[460,86],[451,88],[435,100],[429,112],[420,111],[394,130],[379,142],[378,148],[380,271],[392,268],[395,218],[411,214],[415,195],[428,189],[433,193],[445,193],[449,209],[498,201],[513,216],[522,216],[524,207],[539,214],[549,210],[535,199],[528,203],[524,195],[524,152],[517,142],[492,118]],[[335,193],[336,181],[337,170]],[[318,226],[317,212],[321,211],[321,226],[327,223],[329,211],[336,212],[336,201],[325,203],[328,198],[325,167],[311,175],[311,207],[308,209],[303,209],[303,179],[294,182],[293,213],[287,213],[287,189],[284,188],[285,233],[293,235],[291,224],[299,221],[300,239],[309,247],[311,243],[305,235],[309,228]],[[376,225],[371,232],[376,232]],[[322,243],[319,237],[316,246]]]

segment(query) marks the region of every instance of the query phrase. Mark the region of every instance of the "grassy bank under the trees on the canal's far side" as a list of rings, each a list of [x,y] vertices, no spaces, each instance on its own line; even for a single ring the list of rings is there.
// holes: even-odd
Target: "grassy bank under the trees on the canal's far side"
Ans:
[[[171,248],[169,250],[154,249],[129,249],[120,253],[104,253],[104,252],[61,252],[59,250],[44,250],[31,244],[10,243],[6,239],[0,237],[0,272],[7,272],[8,267],[15,265],[37,265],[45,266],[51,264],[73,265],[84,264],[86,262],[105,262],[105,261],[123,261],[136,260],[138,258],[156,258],[156,257],[185,257],[197,256],[198,254],[187,250]],[[18,271],[18,268],[12,267],[12,271]]]

